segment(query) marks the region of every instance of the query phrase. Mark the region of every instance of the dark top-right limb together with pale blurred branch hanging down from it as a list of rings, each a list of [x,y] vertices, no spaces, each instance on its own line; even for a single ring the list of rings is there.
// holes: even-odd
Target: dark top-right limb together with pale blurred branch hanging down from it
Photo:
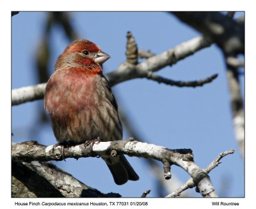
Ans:
[[[239,150],[244,157],[244,107],[237,69],[243,63],[236,58],[237,54],[244,54],[244,18],[233,20],[233,13],[229,13],[227,17],[219,12],[173,12],[173,14],[211,38],[223,51],[227,65],[234,131]]]

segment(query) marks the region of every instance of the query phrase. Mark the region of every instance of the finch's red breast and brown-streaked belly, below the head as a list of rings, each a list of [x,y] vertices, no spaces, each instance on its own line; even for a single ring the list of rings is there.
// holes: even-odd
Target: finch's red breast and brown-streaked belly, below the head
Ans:
[[[49,112],[56,139],[82,143],[100,137],[122,139],[122,124],[106,80],[81,70],[58,70],[45,88],[45,110]]]

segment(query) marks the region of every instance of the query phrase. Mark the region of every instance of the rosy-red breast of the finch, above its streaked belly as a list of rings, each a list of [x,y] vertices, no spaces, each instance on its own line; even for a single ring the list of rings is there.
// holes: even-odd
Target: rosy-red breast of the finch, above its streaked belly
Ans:
[[[56,116],[99,104],[98,77],[99,75],[88,75],[84,70],[76,68],[54,72],[45,88],[45,109]]]

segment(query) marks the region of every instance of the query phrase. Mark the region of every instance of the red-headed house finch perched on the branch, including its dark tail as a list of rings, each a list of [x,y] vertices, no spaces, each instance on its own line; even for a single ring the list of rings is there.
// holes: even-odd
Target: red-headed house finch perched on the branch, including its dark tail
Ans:
[[[102,75],[102,63],[110,56],[95,43],[77,40],[58,57],[55,72],[45,88],[45,111],[51,117],[54,135],[60,144],[81,144],[92,139],[122,139],[122,123],[111,88]],[[115,183],[136,181],[124,155],[102,157]]]

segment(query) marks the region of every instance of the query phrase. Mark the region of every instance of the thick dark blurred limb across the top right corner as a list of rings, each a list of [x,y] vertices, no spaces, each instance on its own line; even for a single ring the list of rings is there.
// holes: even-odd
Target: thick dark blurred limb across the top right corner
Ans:
[[[225,53],[244,54],[244,25],[219,12],[173,12],[218,44]]]

